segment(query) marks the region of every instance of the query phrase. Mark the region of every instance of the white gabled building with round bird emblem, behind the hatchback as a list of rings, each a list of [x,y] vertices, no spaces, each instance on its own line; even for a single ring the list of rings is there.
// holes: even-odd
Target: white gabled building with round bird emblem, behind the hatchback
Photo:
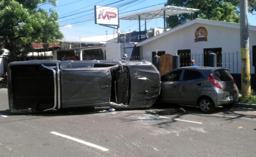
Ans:
[[[217,66],[230,73],[241,73],[240,25],[237,23],[195,19],[183,23],[142,42],[141,57],[158,54],[180,55],[180,65],[189,66],[195,59],[199,66],[207,66],[207,55],[217,54]],[[256,26],[249,25],[250,70],[254,73],[253,55],[256,53]]]

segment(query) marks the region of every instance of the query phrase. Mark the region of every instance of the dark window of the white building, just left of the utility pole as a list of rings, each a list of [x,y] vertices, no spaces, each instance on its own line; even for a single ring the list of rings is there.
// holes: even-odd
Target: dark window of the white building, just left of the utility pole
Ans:
[[[204,48],[204,66],[209,66],[209,54],[216,53],[217,55],[217,67],[221,67],[222,56],[221,56],[222,48]]]

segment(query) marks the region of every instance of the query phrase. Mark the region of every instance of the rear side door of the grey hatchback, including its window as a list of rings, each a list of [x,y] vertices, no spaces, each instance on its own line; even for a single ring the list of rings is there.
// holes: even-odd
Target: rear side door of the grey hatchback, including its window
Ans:
[[[179,84],[180,104],[196,105],[205,84],[205,78],[197,70],[184,70]]]

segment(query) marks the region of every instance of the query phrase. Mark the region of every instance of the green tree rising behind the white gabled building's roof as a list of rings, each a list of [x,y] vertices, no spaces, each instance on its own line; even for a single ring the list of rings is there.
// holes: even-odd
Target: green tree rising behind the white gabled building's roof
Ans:
[[[240,0],[168,0],[166,5],[197,8],[200,11],[169,17],[169,27],[180,24],[181,19],[207,19],[239,23]],[[248,12],[256,10],[256,0],[248,0]]]

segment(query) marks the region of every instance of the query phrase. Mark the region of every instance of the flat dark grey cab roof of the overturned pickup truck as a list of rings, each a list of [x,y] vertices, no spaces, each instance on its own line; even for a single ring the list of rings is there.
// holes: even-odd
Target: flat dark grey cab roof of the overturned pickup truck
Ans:
[[[62,107],[108,103],[111,98],[109,70],[61,72]]]

